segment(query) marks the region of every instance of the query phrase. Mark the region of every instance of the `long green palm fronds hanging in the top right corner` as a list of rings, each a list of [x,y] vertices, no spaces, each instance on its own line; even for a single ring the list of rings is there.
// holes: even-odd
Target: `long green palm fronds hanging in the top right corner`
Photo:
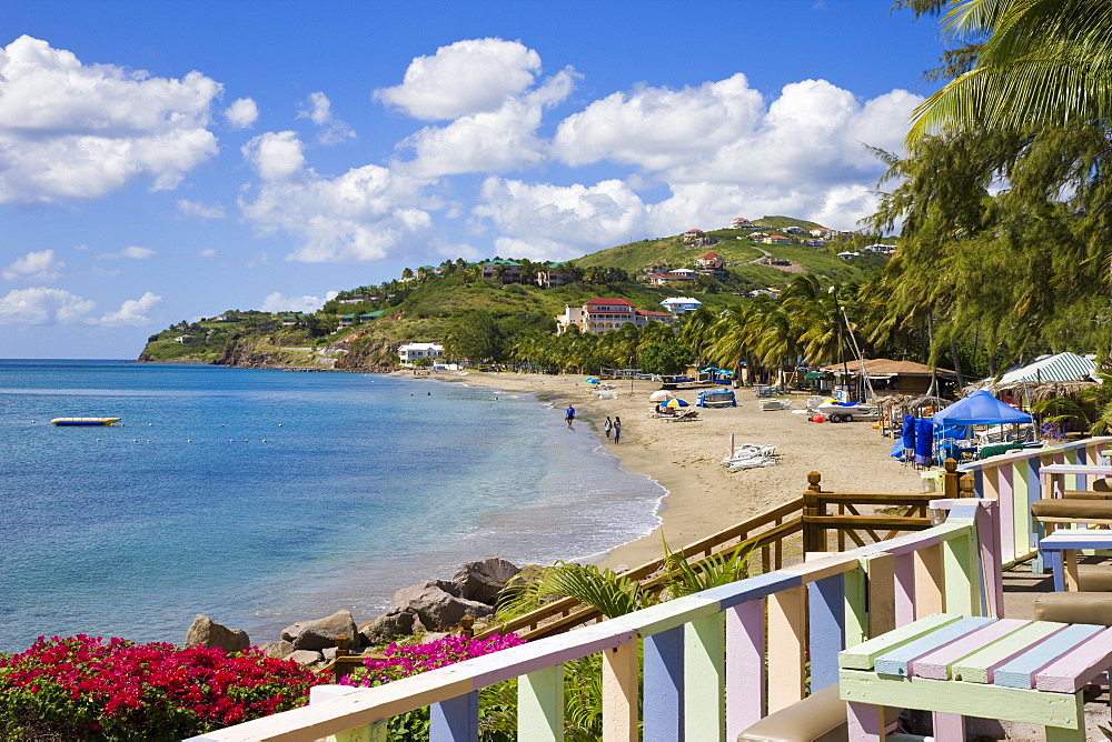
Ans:
[[[944,29],[980,42],[972,69],[915,110],[930,131],[1106,127],[1112,119],[1108,0],[952,0]]]

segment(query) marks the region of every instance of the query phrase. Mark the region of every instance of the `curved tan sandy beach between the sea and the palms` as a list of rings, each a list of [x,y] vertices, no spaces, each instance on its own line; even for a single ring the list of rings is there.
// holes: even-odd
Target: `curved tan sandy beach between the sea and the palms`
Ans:
[[[570,402],[575,425],[592,425],[609,453],[629,471],[659,482],[664,499],[662,528],[673,548],[722,530],[798,497],[807,487],[807,473],[822,474],[824,490],[848,492],[921,492],[919,472],[888,457],[892,439],[883,438],[871,423],[813,423],[806,415],[787,410],[761,411],[752,389],[737,389],[737,407],[699,410],[692,422],[666,422],[647,418],[654,407],[648,395],[657,382],[615,382],[618,398],[599,400],[583,377],[524,373],[478,373],[466,377],[434,373],[431,379],[529,392],[553,402],[553,414],[563,418]],[[677,394],[692,404],[697,391]],[[805,408],[805,397],[795,398],[795,409]],[[622,442],[605,441],[606,417],[622,418]],[[729,450],[743,443],[777,447],[780,464],[743,471],[721,465]],[[622,570],[662,555],[659,529],[623,544],[597,560]]]

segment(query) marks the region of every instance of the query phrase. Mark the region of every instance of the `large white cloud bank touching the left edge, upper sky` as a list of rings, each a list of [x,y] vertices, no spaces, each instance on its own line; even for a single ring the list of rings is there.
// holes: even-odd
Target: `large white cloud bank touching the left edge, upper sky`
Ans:
[[[216,81],[82,64],[22,36],[0,49],[0,203],[91,199],[138,178],[175,188],[217,152]]]

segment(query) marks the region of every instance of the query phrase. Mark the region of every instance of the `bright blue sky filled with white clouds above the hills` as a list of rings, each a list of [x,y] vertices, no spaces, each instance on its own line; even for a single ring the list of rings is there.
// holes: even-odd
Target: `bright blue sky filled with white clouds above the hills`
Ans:
[[[887,0],[0,14],[0,358],[733,217],[852,229],[941,53]]]

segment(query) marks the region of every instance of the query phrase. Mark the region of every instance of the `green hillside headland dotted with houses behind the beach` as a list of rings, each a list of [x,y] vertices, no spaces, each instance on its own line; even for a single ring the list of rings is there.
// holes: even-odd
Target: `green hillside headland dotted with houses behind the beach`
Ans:
[[[753,232],[817,225],[786,217],[757,223],[763,229],[706,232],[706,242],[713,244],[693,245],[676,235],[602,250],[562,264],[559,270],[573,282],[545,289],[537,285],[536,277],[549,265],[528,260],[513,261],[520,267],[520,282],[505,282],[510,279],[502,267],[484,279],[481,265],[461,260],[406,269],[399,280],[341,291],[312,313],[229,310],[217,318],[179,322],[151,335],[140,360],[385,368],[396,361],[393,350],[399,343],[448,340],[451,344],[460,333],[470,332],[471,325],[487,327],[487,334],[495,339],[477,348],[505,355],[520,338],[554,334],[555,318],[566,305],[582,305],[598,297],[627,299],[641,309],[661,311],[661,302],[669,297],[693,295],[717,314],[751,301],[754,291],[788,285],[801,272],[822,275],[827,283],[857,283],[886,261],[867,253],[850,260],[835,258],[830,247],[805,247],[803,240],[810,239],[805,232],[787,235],[788,244],[762,244],[751,239]],[[851,244],[838,247],[850,249]],[[639,280],[651,267],[694,268],[695,260],[707,252],[725,259],[724,272],[664,287]],[[752,262],[766,255],[791,265]]]

